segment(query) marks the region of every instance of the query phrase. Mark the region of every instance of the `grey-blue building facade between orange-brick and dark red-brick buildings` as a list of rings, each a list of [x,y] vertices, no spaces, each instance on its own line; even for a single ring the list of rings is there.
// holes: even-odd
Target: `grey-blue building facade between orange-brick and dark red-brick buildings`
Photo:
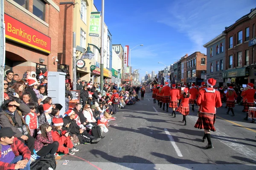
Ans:
[[[225,41],[226,34],[222,33],[204,45],[207,48],[207,79],[216,80],[216,85],[226,85],[225,82]]]

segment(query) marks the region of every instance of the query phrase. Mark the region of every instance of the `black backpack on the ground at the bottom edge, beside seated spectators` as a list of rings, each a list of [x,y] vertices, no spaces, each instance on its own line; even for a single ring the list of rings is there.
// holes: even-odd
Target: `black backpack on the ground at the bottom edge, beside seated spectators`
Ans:
[[[51,167],[56,169],[56,161],[54,155],[43,155],[40,159],[36,159],[35,162],[30,164],[30,170],[48,170]]]

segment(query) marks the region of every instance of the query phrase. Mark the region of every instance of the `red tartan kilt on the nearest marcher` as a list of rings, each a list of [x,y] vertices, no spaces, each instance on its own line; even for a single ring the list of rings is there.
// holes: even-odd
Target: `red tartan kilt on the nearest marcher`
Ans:
[[[207,129],[216,131],[215,124],[216,115],[212,113],[199,113],[198,121],[195,123],[195,128]]]

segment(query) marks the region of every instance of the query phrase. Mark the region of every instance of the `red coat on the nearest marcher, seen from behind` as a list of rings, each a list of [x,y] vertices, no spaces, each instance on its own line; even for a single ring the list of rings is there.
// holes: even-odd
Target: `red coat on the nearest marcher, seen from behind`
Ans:
[[[207,88],[208,91],[213,91],[214,88]],[[215,89],[214,89],[215,90]],[[200,106],[199,111],[203,113],[216,113],[216,108],[221,107],[221,96],[220,92],[214,93],[207,92],[205,89],[199,91],[197,104]]]

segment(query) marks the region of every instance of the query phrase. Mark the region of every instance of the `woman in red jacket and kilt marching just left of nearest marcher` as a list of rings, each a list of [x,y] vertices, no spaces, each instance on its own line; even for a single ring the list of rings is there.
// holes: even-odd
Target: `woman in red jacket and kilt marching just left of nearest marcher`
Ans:
[[[186,116],[189,115],[189,99],[190,99],[189,89],[185,88],[184,93],[180,95],[181,103],[180,106],[177,108],[177,112],[180,112],[183,115],[182,122],[185,121],[186,125]]]

